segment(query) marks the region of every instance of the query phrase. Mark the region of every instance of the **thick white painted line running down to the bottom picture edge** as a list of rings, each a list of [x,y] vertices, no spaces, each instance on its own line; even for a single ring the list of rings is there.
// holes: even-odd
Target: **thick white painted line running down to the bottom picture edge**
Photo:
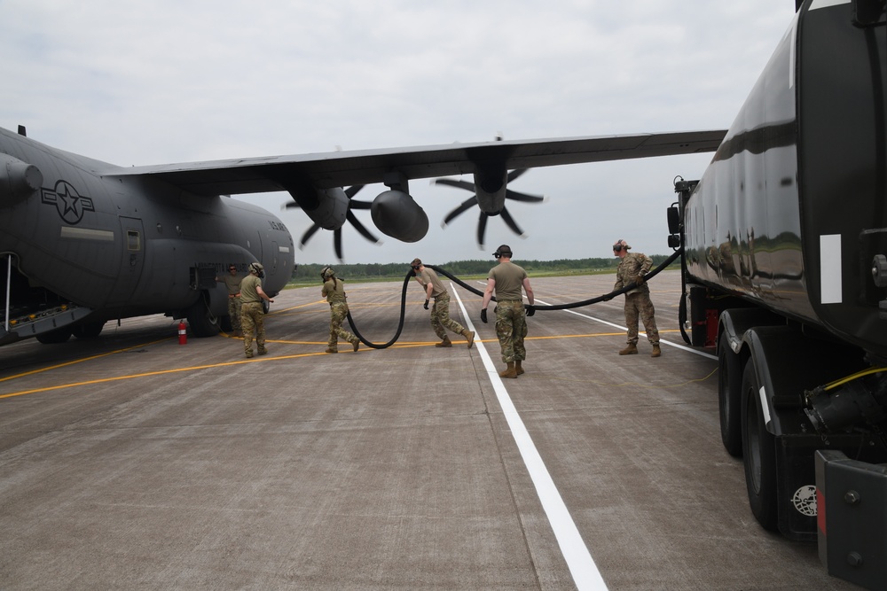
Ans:
[[[468,330],[475,330],[474,324],[468,317],[465,305],[462,303],[462,299],[459,298],[459,291],[453,289],[452,293],[456,295],[459,309],[462,310],[462,316],[468,323]],[[487,369],[487,375],[490,377],[493,390],[505,415],[508,427],[511,429],[512,435],[514,435],[514,442],[517,444],[518,451],[521,452],[523,463],[530,472],[533,486],[536,486],[536,493],[539,495],[539,501],[542,502],[542,509],[545,510],[548,522],[552,525],[554,537],[561,547],[561,554],[564,560],[567,561],[567,567],[573,577],[573,582],[580,591],[585,591],[585,589],[606,591],[607,585],[604,584],[604,579],[600,577],[597,564],[594,564],[592,555],[585,546],[582,536],[579,535],[579,530],[573,521],[573,517],[569,514],[567,505],[564,504],[561,498],[561,493],[558,492],[557,486],[554,486],[554,481],[551,474],[548,473],[546,464],[542,461],[542,457],[539,455],[530,433],[527,432],[521,416],[518,415],[517,409],[514,408],[514,402],[508,395],[508,391],[502,383],[502,378],[498,376],[498,370],[493,364],[490,355],[487,354],[486,347],[483,346],[480,339],[475,340],[475,346],[477,347],[477,352],[481,355],[483,367]]]

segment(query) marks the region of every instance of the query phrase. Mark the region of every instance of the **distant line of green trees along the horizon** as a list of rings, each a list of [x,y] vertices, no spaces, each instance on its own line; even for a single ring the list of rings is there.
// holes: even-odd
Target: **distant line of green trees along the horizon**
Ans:
[[[654,267],[669,257],[668,254],[651,254]],[[449,273],[458,277],[482,276],[485,277],[495,264],[495,261],[451,261],[440,263],[437,261],[424,261],[426,265],[434,265],[444,268]],[[516,260],[521,267],[527,269],[530,276],[543,275],[593,275],[595,273],[614,272],[619,265],[616,257],[600,259],[558,259],[556,261],[524,261]],[[293,272],[293,281],[297,284],[320,283],[320,271],[326,265],[316,263],[297,264]],[[358,263],[332,265],[336,275],[350,281],[378,281],[388,279],[403,279],[410,270],[408,262],[389,263]]]

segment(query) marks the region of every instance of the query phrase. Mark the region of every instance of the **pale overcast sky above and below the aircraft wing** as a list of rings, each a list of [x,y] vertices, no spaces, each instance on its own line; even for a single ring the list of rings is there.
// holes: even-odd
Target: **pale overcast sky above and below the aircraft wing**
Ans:
[[[721,129],[793,14],[792,0],[0,0],[0,127],[122,166]],[[470,195],[415,180],[428,236],[374,246],[346,229],[345,262],[488,259],[502,243],[516,261],[608,257],[617,238],[670,253],[671,181],[710,156],[531,170],[511,188],[549,201],[509,202],[527,236],[491,218],[483,251],[477,210],[440,226]],[[286,193],[242,198],[296,243],[310,227],[281,211]],[[332,232],[295,258],[335,262]]]

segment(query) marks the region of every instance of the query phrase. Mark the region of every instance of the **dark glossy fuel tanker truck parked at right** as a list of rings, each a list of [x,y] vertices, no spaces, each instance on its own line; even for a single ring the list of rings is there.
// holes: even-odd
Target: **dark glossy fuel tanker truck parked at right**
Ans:
[[[676,178],[684,338],[766,529],[887,589],[884,0],[804,0],[699,181]]]

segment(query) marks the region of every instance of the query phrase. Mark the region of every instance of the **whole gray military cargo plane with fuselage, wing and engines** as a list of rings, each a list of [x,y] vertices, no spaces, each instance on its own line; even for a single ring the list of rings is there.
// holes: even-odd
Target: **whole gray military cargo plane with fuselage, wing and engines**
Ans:
[[[259,261],[270,295],[287,284],[294,242],[275,215],[231,195],[287,191],[315,226],[352,220],[353,187],[384,183],[376,228],[416,242],[428,216],[409,181],[473,175],[482,215],[505,209],[509,171],[714,152],[726,130],[330,152],[118,167],[0,128],[0,345],[96,337],[109,320],[186,318],[199,337],[227,315],[216,276]],[[514,172],[510,178],[514,178]],[[349,187],[349,190],[343,189]]]

